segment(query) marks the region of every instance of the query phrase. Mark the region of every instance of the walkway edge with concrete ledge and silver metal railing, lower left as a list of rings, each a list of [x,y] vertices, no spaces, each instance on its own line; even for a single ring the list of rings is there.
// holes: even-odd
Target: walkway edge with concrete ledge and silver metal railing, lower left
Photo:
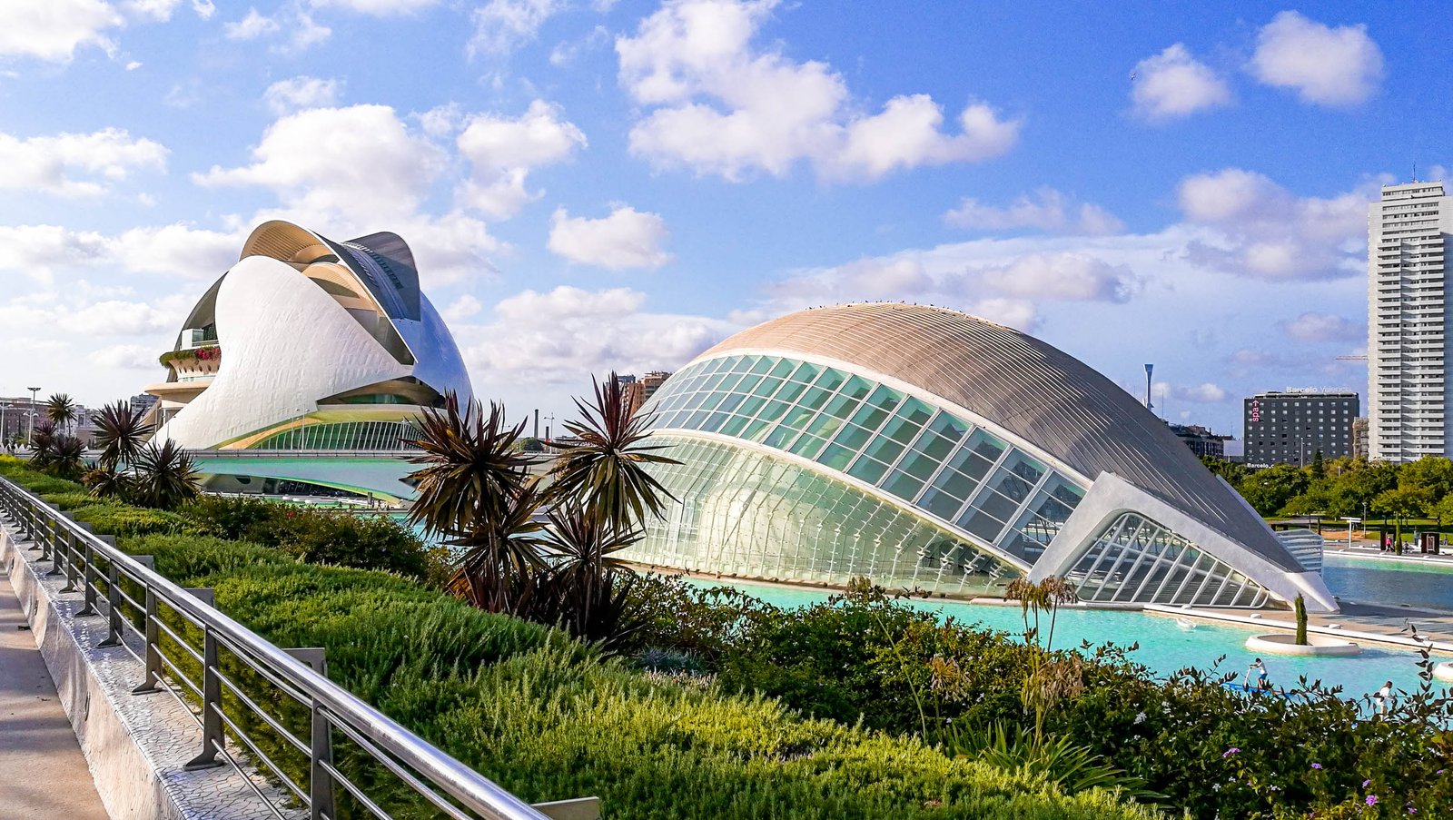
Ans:
[[[600,816],[596,798],[520,800],[330,680],[325,648],[269,643],[6,478],[0,571],[0,615],[35,641],[0,646],[3,666],[58,707],[0,712],[0,759],[25,762],[0,781],[0,817]],[[12,689],[0,675],[0,702]]]

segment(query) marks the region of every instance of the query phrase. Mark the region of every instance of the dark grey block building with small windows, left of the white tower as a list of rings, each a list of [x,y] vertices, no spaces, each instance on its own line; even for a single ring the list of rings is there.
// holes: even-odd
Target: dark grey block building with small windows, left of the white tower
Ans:
[[[1343,390],[1287,388],[1244,400],[1245,462],[1248,467],[1311,464],[1353,455],[1353,422],[1361,403]]]

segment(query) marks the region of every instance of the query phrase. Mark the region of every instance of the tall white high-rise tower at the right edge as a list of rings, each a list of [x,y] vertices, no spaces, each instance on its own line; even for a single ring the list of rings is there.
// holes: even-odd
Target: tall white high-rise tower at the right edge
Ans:
[[[1367,214],[1370,458],[1450,455],[1447,252],[1453,198],[1438,182],[1388,185]]]

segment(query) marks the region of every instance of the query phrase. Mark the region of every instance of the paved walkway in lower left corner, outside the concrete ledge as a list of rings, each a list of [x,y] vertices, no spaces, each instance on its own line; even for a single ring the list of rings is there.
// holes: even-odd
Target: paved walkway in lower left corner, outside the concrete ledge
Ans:
[[[0,817],[108,820],[10,579],[0,574]]]

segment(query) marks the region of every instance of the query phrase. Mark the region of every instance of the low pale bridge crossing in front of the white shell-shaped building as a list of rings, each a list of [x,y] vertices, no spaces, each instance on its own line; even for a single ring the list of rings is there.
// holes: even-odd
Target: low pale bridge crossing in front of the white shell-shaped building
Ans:
[[[187,451],[203,475],[230,477],[214,489],[262,491],[253,481],[301,481],[334,490],[347,490],[379,500],[400,503],[417,493],[405,478],[420,470],[410,461],[414,449],[192,449]],[[530,471],[549,470],[554,454],[538,454]]]

